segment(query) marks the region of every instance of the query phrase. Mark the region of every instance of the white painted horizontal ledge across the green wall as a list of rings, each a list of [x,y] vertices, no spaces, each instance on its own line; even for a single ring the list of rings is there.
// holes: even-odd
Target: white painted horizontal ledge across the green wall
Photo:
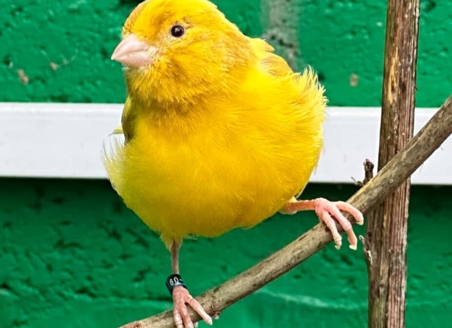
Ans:
[[[122,104],[0,103],[0,176],[105,178],[100,154]],[[416,110],[415,131],[436,108]],[[377,163],[379,108],[329,107],[312,182],[352,183]],[[452,185],[452,138],[417,170],[416,184]]]

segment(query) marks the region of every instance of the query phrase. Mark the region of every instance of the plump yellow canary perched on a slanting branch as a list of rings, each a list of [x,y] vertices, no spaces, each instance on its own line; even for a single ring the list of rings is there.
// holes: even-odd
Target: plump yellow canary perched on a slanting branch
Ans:
[[[314,209],[356,236],[325,199],[295,201],[317,165],[325,117],[316,74],[294,73],[264,40],[250,38],[207,0],[148,0],[126,20],[112,59],[124,66],[124,144],[104,156],[114,189],[171,250],[177,327],[193,327],[186,303],[209,315],[181,282],[188,235],[218,236],[282,210]]]

